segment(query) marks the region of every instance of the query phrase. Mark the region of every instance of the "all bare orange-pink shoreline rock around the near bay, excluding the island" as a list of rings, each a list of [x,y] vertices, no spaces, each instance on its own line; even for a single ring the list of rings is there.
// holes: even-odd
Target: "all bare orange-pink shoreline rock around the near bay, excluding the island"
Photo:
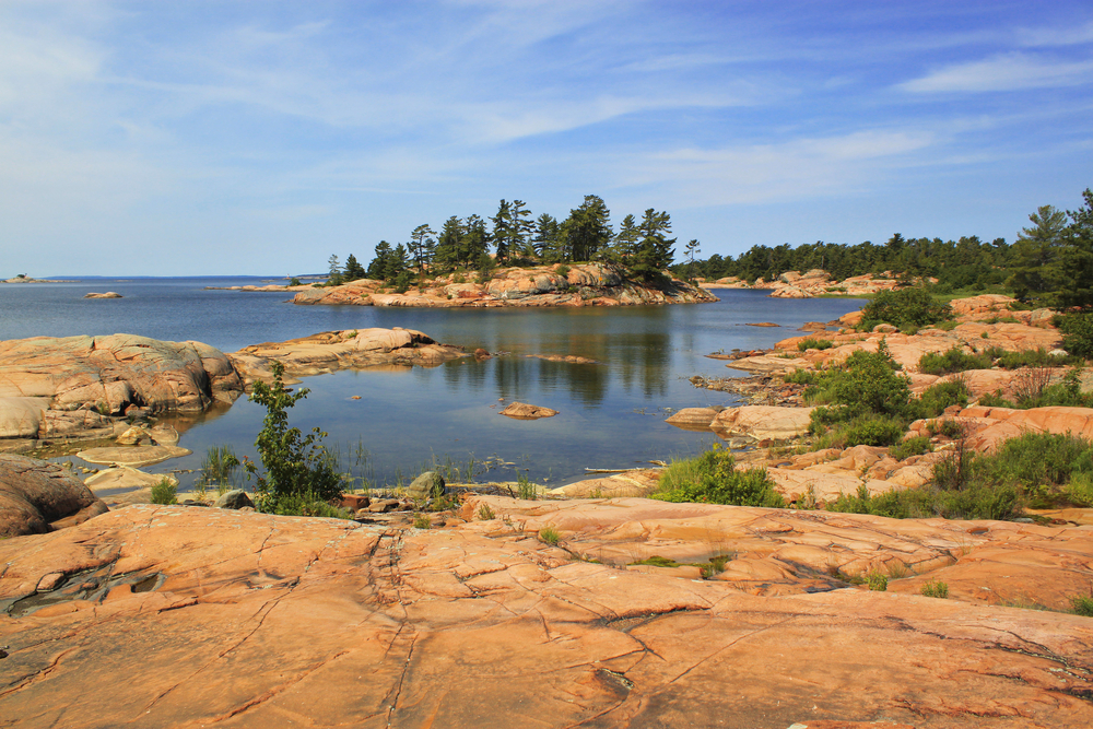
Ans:
[[[786,373],[883,341],[921,391],[939,381],[917,372],[924,352],[1058,344],[1049,316],[1007,306],[957,302],[956,326],[916,334],[851,331],[848,315],[832,331],[810,328],[826,349],[801,351],[804,339],[790,338],[724,355],[750,376],[692,379],[751,403],[683,409],[668,422],[745,448],[739,466],[766,468],[788,509],[640,498],[658,487],[649,469],[540,489],[537,501],[514,498],[513,486],[449,485],[451,508],[416,515],[391,512],[408,504],[389,494],[349,494],[342,506],[356,520],[197,502],[107,512],[67,470],[0,455],[0,522],[11,534],[0,540],[0,667],[10,677],[0,715],[75,728],[132,717],[179,727],[686,726],[712,716],[813,729],[1090,726],[1093,620],[1070,613],[1069,600],[1093,584],[1093,509],[1018,521],[826,512],[818,506],[861,487],[928,483],[952,438],[920,421],[909,434],[935,449],[902,460],[881,447],[795,447],[811,409]],[[113,435],[120,415],[148,408],[146,393],[161,408],[230,400],[267,378],[273,360],[306,376],[469,356],[400,329],[232,354],[116,336],[54,340],[43,357],[43,339],[0,343],[0,405],[48,404],[42,413],[55,414],[38,420],[47,437],[52,420],[92,412]],[[12,357],[24,365],[17,377]],[[58,379],[64,368],[75,379]],[[963,376],[978,396],[1007,391],[1020,373]],[[1030,431],[1093,437],[1085,408],[972,403],[947,418],[977,450]],[[884,588],[862,584],[867,575]],[[926,597],[938,584],[948,599]],[[116,691],[117,675],[127,691]]]

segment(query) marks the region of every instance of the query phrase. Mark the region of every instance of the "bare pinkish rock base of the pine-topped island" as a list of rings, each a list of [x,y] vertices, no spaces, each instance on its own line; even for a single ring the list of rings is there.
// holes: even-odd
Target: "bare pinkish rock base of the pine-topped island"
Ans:
[[[364,279],[330,289],[302,291],[293,303],[456,308],[636,306],[717,301],[713,294],[674,279],[662,285],[628,281],[620,269],[602,263],[574,264],[565,275],[559,273],[559,268],[498,269],[485,283],[469,283],[461,274],[453,273],[404,294],[395,293],[390,284],[383,281]]]

